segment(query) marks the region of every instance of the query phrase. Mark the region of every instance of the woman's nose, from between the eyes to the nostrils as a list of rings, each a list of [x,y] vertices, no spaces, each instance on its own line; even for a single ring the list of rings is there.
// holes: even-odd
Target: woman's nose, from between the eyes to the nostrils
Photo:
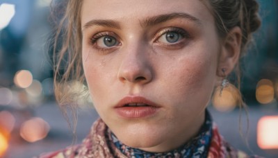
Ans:
[[[153,78],[152,63],[146,46],[133,44],[122,52],[122,62],[118,71],[120,82],[147,84]]]

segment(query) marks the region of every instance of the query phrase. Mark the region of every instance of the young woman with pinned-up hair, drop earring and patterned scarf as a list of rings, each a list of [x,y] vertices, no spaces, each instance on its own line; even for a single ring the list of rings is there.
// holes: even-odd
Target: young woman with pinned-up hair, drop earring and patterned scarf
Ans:
[[[100,119],[80,145],[42,157],[247,157],[222,139],[206,106],[260,26],[255,0],[65,6],[56,96],[72,103],[67,83],[85,83]]]

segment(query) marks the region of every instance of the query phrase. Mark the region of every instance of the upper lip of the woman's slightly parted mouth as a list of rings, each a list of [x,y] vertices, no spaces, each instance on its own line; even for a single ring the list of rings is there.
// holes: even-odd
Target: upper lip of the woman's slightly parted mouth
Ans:
[[[125,105],[129,104],[136,104],[138,106],[140,105],[148,105],[152,107],[161,107],[160,105],[157,105],[156,103],[152,102],[151,100],[147,100],[147,98],[144,98],[142,96],[126,96],[122,98],[115,107],[124,107]]]

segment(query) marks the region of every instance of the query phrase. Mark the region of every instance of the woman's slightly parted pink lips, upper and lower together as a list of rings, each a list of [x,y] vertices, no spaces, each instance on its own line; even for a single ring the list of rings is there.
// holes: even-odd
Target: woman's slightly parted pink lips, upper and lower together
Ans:
[[[138,119],[153,116],[160,105],[140,96],[127,96],[115,106],[115,111],[124,119]]]

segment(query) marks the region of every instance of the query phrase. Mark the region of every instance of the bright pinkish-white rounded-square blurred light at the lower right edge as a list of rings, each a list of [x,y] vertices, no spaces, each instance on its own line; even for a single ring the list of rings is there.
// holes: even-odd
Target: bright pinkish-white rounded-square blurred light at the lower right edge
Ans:
[[[259,120],[257,141],[262,149],[278,149],[278,116],[263,116]]]

